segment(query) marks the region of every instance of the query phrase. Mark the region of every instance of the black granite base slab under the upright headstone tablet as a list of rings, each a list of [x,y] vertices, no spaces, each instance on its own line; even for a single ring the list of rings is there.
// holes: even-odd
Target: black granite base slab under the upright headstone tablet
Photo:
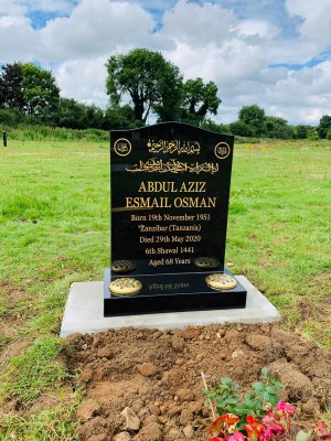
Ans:
[[[167,313],[180,311],[222,310],[245,308],[246,289],[237,281],[231,290],[211,289],[205,278],[224,271],[181,272],[171,275],[135,275],[142,283],[142,289],[135,295],[115,295],[109,292],[110,280],[132,275],[104,275],[104,316]]]

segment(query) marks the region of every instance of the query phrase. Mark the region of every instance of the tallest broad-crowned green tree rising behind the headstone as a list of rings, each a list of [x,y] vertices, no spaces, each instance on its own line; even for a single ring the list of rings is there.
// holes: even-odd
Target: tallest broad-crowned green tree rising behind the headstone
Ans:
[[[135,119],[147,121],[152,109],[161,120],[175,115],[180,105],[182,75],[159,52],[135,49],[126,55],[113,55],[107,64],[106,88],[110,108],[129,94]]]

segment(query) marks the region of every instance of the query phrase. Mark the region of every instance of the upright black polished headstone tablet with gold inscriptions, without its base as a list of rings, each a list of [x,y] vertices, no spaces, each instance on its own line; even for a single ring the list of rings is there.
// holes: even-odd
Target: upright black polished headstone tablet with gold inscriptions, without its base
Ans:
[[[224,266],[233,137],[167,122],[111,131],[110,151],[111,260],[210,256]]]

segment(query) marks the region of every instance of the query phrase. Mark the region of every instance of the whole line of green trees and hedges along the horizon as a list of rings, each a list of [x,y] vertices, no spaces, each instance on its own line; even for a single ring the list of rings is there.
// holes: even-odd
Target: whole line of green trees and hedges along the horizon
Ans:
[[[214,82],[183,79],[183,75],[159,52],[135,49],[113,55],[106,63],[108,107],[103,110],[73,98],[63,98],[51,71],[33,63],[8,63],[0,71],[0,123],[47,125],[71,129],[124,129],[158,122],[182,121],[242,137],[278,139],[331,139],[331,116],[317,127],[290,126],[267,116],[256,104],[244,106],[238,119],[218,125],[211,119],[222,103]],[[129,101],[129,103],[128,103]]]

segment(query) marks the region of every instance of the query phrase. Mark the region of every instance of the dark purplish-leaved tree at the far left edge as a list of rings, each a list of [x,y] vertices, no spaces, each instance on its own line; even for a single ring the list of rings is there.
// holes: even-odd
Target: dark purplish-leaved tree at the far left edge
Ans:
[[[0,74],[0,107],[23,109],[22,68],[19,63],[8,63]]]

